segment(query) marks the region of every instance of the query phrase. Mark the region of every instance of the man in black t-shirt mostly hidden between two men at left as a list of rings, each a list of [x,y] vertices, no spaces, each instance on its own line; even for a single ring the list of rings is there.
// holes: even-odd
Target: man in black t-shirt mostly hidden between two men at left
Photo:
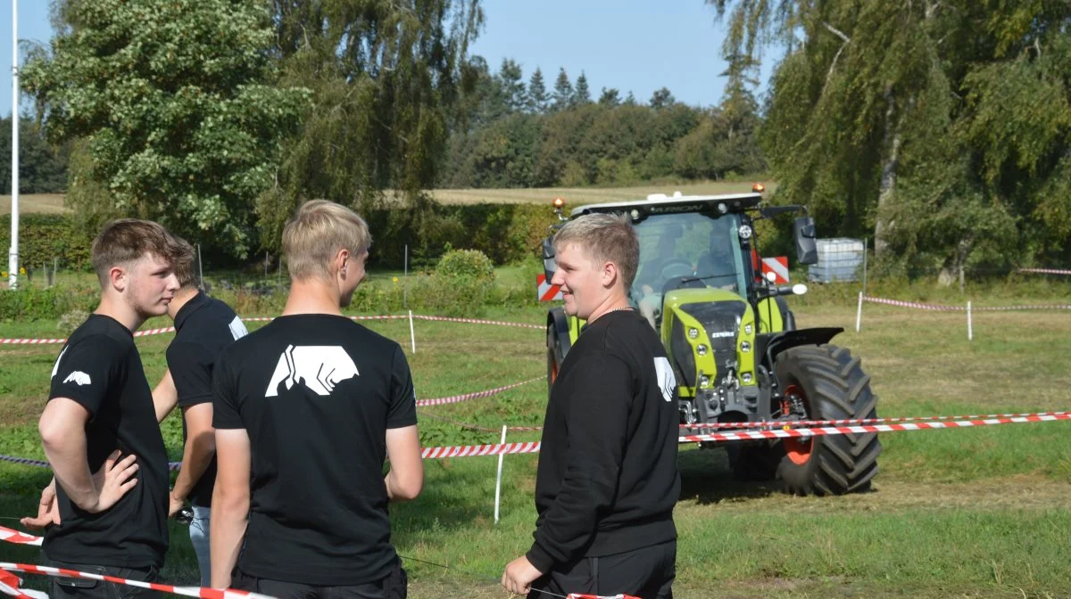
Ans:
[[[215,486],[215,430],[212,428],[212,367],[224,348],[246,335],[230,306],[205,295],[194,280],[194,248],[176,237],[175,275],[179,290],[167,306],[175,339],[167,347],[167,372],[152,390],[156,419],[178,405],[182,410],[182,470],[171,488],[168,516],[193,507],[190,541],[197,555],[201,586],[210,575],[209,525]]]

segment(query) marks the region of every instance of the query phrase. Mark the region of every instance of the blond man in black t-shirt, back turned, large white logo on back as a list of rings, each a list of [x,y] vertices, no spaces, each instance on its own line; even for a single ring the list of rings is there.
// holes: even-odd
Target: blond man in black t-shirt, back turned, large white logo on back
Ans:
[[[423,486],[412,380],[396,342],[341,311],[369,243],[349,209],[305,203],[283,231],[283,316],[215,364],[216,588],[405,597],[387,509]]]

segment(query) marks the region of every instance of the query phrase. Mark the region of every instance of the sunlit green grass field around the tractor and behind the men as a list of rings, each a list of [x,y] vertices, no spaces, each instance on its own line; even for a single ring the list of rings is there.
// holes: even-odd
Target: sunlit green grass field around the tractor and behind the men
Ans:
[[[846,305],[805,305],[801,325],[854,327]],[[539,308],[488,313],[539,323]],[[1068,410],[1071,317],[1049,312],[976,314],[968,342],[963,314],[868,306],[864,329],[838,341],[863,357],[881,397],[881,416]],[[162,326],[164,321],[146,327]],[[408,323],[368,326],[409,354]],[[0,324],[0,337],[55,336],[55,324]],[[544,374],[540,331],[444,322],[416,323],[409,355],[419,397],[481,390]],[[164,370],[169,336],[138,340],[151,381]],[[0,347],[0,454],[40,458],[35,420],[58,345]],[[425,445],[497,442],[432,418],[488,428],[539,425],[546,388],[533,383],[499,396],[422,409]],[[172,458],[180,428],[165,423]],[[1071,596],[1071,424],[889,433],[874,491],[793,497],[773,483],[733,480],[724,451],[682,447],[683,492],[677,597]],[[510,441],[538,439],[516,433]],[[493,522],[496,460],[425,462],[417,501],[392,507],[410,597],[506,598],[495,581],[531,541],[536,456],[506,458],[502,520]],[[29,513],[48,473],[0,463],[0,517]],[[0,521],[14,526],[11,520]],[[36,551],[0,543],[0,560],[35,562]],[[190,583],[196,564],[184,527],[172,525],[164,577]],[[40,587],[40,581],[31,578]]]

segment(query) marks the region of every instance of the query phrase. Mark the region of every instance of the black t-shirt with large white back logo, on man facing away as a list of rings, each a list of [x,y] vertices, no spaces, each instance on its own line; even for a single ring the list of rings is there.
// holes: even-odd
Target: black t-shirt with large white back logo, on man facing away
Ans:
[[[314,585],[387,577],[387,429],[417,424],[402,348],[348,318],[281,317],[215,364],[213,425],[245,429],[250,520],[238,567]]]

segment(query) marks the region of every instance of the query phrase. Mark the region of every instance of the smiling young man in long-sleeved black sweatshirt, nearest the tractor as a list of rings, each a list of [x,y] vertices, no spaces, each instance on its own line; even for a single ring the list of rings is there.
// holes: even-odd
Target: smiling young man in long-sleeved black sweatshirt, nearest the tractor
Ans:
[[[639,242],[624,216],[582,216],[554,240],[565,312],[587,320],[550,391],[536,479],[534,542],[502,586],[542,597],[673,597],[676,380],[629,305]],[[542,592],[542,593],[541,593]]]

